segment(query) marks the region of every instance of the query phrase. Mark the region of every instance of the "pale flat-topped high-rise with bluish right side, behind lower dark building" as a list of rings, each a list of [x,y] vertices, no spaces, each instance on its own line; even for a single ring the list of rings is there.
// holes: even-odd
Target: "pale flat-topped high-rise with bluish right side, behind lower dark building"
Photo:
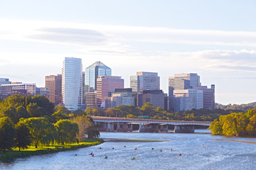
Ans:
[[[159,90],[160,77],[156,72],[137,72],[136,76],[130,77],[132,91]]]

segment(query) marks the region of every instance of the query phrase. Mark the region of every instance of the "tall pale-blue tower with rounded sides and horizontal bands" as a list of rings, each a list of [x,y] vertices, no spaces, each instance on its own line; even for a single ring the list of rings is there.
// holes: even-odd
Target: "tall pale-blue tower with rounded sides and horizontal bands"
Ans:
[[[63,104],[68,110],[75,111],[82,104],[82,60],[65,57],[62,69]]]

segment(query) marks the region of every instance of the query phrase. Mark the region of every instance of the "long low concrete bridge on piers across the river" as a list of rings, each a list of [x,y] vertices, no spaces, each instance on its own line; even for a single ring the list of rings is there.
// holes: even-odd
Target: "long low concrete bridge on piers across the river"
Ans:
[[[102,116],[90,116],[95,125],[99,125],[99,131],[114,132],[114,125],[117,132],[131,132],[132,125],[139,125],[139,132],[168,132],[168,125],[174,125],[174,132],[194,132],[194,125],[210,126],[208,121],[184,121],[184,120],[154,120],[141,118],[112,118]]]

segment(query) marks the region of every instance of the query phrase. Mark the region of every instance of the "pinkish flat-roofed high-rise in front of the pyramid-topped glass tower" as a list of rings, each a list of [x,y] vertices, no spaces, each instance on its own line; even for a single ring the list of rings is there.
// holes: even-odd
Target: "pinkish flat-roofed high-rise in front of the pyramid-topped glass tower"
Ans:
[[[115,89],[124,88],[124,79],[113,76],[100,76],[97,79],[97,106],[100,107],[105,102],[105,98],[109,96],[109,92]]]

